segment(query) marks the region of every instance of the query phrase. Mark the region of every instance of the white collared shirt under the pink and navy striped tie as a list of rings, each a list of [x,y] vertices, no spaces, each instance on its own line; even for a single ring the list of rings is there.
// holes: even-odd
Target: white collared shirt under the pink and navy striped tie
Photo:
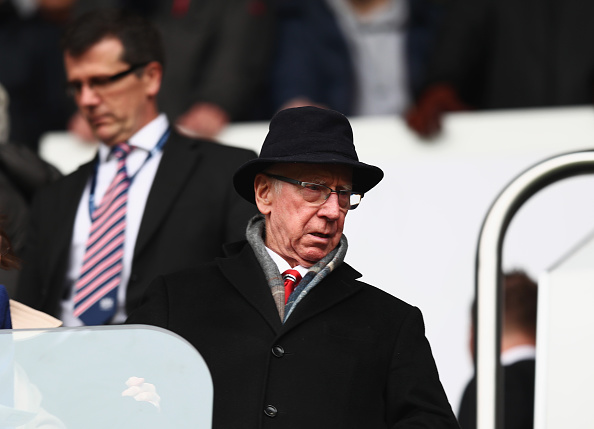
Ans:
[[[126,169],[130,177],[135,174],[136,176],[128,189],[122,278],[118,287],[118,308],[112,323],[123,323],[127,317],[125,309],[126,288],[128,279],[130,278],[132,256],[134,254],[134,247],[146,200],[155,174],[157,173],[157,168],[161,162],[163,152],[157,151],[146,163],[145,160],[168,127],[169,121],[167,117],[164,114],[160,114],[128,140],[128,143],[133,146],[133,150],[126,158]],[[97,181],[95,185],[96,206],[101,202],[105,191],[117,172],[117,159],[115,156],[110,156],[110,153],[111,148],[108,146],[103,144],[99,146],[99,167],[97,169]],[[70,244],[70,259],[68,261],[68,271],[65,280],[68,290],[71,291],[80,275],[86,242],[91,228],[89,195],[92,179],[92,177],[89,178],[85,187],[74,222],[72,243]],[[64,322],[64,326],[83,325],[79,318],[74,317],[73,311],[74,294],[71,293],[70,297],[62,301],[60,319]]]

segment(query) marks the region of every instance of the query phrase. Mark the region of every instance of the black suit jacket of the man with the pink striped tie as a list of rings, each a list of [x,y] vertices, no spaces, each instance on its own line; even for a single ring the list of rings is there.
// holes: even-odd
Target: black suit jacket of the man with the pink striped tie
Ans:
[[[136,307],[159,274],[206,262],[245,235],[256,212],[232,184],[239,165],[255,157],[172,133],[151,187],[134,247],[126,309]],[[33,203],[17,300],[58,315],[76,211],[94,162],[38,193]]]

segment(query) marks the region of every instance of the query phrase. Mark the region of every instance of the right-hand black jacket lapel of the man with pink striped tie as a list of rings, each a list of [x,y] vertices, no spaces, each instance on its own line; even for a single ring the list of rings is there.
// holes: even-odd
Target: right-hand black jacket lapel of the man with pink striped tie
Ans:
[[[163,148],[163,158],[149,192],[138,238],[134,248],[134,258],[149,243],[172,204],[184,189],[184,184],[201,157],[200,142],[186,139],[172,132]]]

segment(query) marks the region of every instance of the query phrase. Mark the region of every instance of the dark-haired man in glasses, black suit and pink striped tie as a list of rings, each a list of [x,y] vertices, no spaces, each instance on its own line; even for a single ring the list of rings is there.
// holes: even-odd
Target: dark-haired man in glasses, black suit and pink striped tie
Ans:
[[[243,236],[255,210],[232,174],[255,154],[171,129],[156,103],[161,39],[146,20],[90,12],[63,47],[67,88],[102,145],[36,197],[17,299],[66,326],[121,323],[156,275]]]

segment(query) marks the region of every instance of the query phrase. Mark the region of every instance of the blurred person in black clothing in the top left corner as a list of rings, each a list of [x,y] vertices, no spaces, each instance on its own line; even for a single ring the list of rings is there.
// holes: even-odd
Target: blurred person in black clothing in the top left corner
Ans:
[[[65,130],[74,112],[59,45],[73,1],[38,0],[34,14],[23,17],[11,0],[0,0],[0,83],[11,100],[10,141],[34,152],[41,136]]]

